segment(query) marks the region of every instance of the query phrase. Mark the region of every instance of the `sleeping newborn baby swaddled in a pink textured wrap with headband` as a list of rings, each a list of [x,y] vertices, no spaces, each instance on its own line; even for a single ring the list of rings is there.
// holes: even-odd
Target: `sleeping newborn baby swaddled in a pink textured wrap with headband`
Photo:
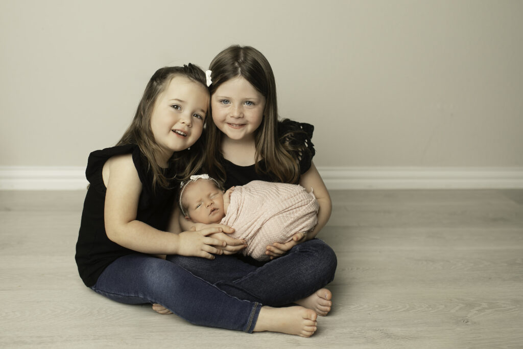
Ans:
[[[224,193],[213,178],[198,175],[182,184],[180,208],[192,222],[234,228],[229,235],[247,241],[243,254],[267,261],[267,245],[314,229],[319,205],[300,185],[253,181]]]

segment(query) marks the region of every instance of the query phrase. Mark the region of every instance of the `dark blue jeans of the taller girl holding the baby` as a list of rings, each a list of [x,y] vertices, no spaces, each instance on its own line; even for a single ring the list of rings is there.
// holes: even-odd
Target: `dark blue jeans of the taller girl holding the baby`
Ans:
[[[296,245],[263,265],[249,259],[252,262],[234,255],[217,255],[214,260],[167,256],[228,295],[272,307],[288,305],[324,287],[334,279],[337,265],[334,251],[319,239]]]

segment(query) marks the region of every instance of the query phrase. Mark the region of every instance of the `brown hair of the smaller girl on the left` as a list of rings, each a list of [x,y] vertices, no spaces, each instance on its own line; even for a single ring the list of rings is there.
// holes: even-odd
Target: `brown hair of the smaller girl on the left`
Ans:
[[[207,89],[205,73],[197,65],[189,63],[184,66],[169,66],[158,69],[145,87],[131,125],[117,143],[117,145],[138,145],[142,154],[145,155],[149,168],[153,173],[153,188],[156,187],[156,184],[168,188],[168,178],[165,177],[162,167],[158,164],[158,155],[162,150],[154,140],[151,129],[151,115],[156,99],[165,91],[175,76],[185,76],[191,81],[200,83]],[[204,120],[204,128],[208,119],[209,118],[206,117]],[[191,145],[190,151],[189,149],[178,151],[171,157],[170,161],[176,164],[177,178],[185,179],[194,174],[203,165],[204,137],[200,138],[201,140]]]

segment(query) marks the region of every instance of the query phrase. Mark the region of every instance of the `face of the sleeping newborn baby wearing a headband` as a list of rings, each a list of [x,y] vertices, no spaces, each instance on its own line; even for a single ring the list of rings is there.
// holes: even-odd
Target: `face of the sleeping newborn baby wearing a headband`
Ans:
[[[210,179],[198,179],[184,190],[182,204],[193,222],[218,223],[225,216],[223,192]]]

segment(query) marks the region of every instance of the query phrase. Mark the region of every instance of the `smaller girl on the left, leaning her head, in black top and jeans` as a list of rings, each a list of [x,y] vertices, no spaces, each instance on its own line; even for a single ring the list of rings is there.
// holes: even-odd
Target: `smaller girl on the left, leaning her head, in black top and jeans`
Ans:
[[[238,299],[155,256],[212,260],[226,245],[217,234],[222,228],[167,231],[179,179],[201,167],[197,140],[208,108],[206,76],[198,67],[154,73],[118,144],[89,155],[89,187],[76,244],[78,272],[102,296],[156,303],[194,324],[310,336],[316,330],[312,310]]]

